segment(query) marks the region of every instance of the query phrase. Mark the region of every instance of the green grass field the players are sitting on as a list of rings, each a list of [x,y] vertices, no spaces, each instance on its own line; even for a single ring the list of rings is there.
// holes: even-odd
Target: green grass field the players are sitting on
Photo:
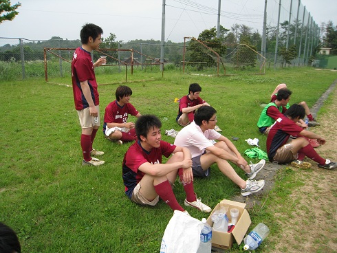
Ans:
[[[98,72],[98,83],[105,84],[99,87],[101,120],[124,75]],[[190,83],[199,83],[202,98],[217,109],[223,134],[239,137],[235,145],[243,153],[250,148],[245,142],[249,137],[259,137],[265,150],[265,136],[256,126],[262,110],[259,104],[269,101],[276,85],[287,83],[293,91],[290,103],[305,100],[312,107],[334,79],[333,72],[310,68],[220,77],[166,71],[164,78],[159,70],[136,69],[126,85],[133,91],[131,103],[142,114],[157,115],[164,132],[181,129],[175,122],[178,104],[173,101],[188,93]],[[71,84],[69,77],[50,81]],[[130,144],[118,146],[105,140],[102,128],[94,147],[105,151],[106,164],[99,168],[80,165],[80,126],[72,87],[52,83],[45,83],[43,77],[1,82],[0,221],[17,231],[23,252],[158,252],[172,210],[162,201],[154,208],[129,201],[121,165]],[[174,141],[164,134],[162,139]],[[195,191],[214,207],[221,199],[239,194],[239,188],[217,166],[212,168],[208,179],[195,179]],[[235,169],[244,178],[243,171]],[[279,201],[294,187],[288,185],[289,177],[294,177],[292,170],[284,169],[276,179]],[[183,204],[182,186],[176,184],[174,191]],[[264,221],[276,233],[270,205],[272,201],[266,199],[263,208],[250,210],[250,216],[253,224]],[[197,210],[188,212],[197,219],[208,216]],[[272,248],[273,243],[267,242]],[[241,252],[241,246],[235,244],[232,252]]]

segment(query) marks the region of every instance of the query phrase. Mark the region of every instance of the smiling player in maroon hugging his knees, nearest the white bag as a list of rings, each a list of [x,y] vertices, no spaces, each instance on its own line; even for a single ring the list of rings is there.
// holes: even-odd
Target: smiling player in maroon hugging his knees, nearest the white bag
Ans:
[[[135,122],[138,140],[129,147],[122,164],[125,193],[142,206],[155,206],[160,197],[172,210],[184,212],[172,190],[179,175],[186,192],[185,206],[210,212],[212,209],[197,199],[194,192],[190,151],[162,141],[161,127],[155,115],[142,115]],[[174,155],[162,164],[162,155],[171,154]]]

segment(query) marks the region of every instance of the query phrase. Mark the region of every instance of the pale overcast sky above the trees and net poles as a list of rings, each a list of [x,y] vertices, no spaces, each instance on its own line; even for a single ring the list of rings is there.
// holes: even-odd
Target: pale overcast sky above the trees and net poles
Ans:
[[[17,3],[18,0],[11,0]],[[85,23],[103,29],[103,37],[116,34],[117,41],[161,39],[162,0],[19,0],[19,15],[0,24],[0,37],[47,40],[52,36],[79,39]],[[291,0],[282,0],[287,5]],[[297,0],[292,0],[297,3]],[[264,0],[221,0],[221,25],[245,24],[261,33]],[[279,0],[268,0],[268,19],[277,21]],[[316,22],[336,21],[336,3],[331,0],[301,0]],[[197,37],[217,25],[218,0],[166,0],[165,41]],[[289,15],[289,14],[288,14]],[[296,15],[295,15],[296,16]],[[3,41],[1,41],[3,42]],[[2,43],[1,43],[2,44]]]

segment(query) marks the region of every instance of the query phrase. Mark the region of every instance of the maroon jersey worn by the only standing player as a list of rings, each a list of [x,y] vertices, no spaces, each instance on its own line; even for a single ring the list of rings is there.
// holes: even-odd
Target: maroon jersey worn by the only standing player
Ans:
[[[76,110],[82,110],[89,107],[89,104],[83,95],[82,87],[80,87],[80,82],[84,82],[85,80],[88,80],[91,98],[94,101],[94,104],[99,105],[100,101],[98,98],[97,82],[91,54],[82,47],[78,47],[72,58],[72,88]]]

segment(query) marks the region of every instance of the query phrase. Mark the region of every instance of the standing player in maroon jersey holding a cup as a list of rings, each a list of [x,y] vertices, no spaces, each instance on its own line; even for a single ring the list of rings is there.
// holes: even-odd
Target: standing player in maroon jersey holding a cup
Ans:
[[[102,43],[103,30],[97,25],[88,23],[80,30],[81,47],[78,47],[72,59],[72,87],[75,108],[80,119],[82,133],[80,146],[83,152],[82,165],[100,166],[104,164],[91,156],[104,155],[102,151],[92,148],[92,143],[100,126],[100,107],[97,82],[94,68],[106,63],[105,58],[99,58],[92,63],[91,52],[97,50]]]

